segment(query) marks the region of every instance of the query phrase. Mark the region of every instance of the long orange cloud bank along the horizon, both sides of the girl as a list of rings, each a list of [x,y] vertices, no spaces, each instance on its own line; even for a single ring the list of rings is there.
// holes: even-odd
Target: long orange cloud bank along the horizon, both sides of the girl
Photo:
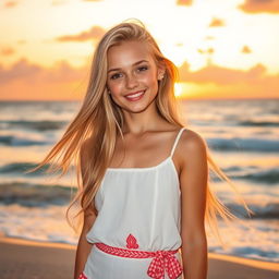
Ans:
[[[257,64],[247,71],[208,65],[196,72],[184,63],[180,81],[190,85],[186,98],[248,98],[279,96],[279,74],[268,75]],[[89,65],[74,68],[65,61],[45,68],[21,59],[10,68],[0,64],[0,99],[81,99],[86,92]],[[191,86],[193,85],[193,86]]]

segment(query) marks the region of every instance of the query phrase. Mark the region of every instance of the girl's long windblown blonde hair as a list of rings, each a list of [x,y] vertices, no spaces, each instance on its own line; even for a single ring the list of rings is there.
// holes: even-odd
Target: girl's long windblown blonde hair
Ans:
[[[66,210],[66,219],[75,231],[81,222],[74,222],[75,217],[84,214],[92,207],[97,215],[94,198],[100,186],[116,147],[117,136],[122,134],[123,114],[118,106],[113,106],[108,94],[107,84],[107,52],[110,47],[119,45],[121,41],[137,40],[146,43],[153,53],[157,64],[163,63],[166,68],[165,78],[159,82],[156,107],[161,118],[177,126],[184,126],[182,118],[177,110],[174,97],[174,83],[178,81],[178,69],[161,53],[157,43],[146,31],[143,24],[124,22],[109,29],[99,41],[93,57],[90,78],[83,104],[76,117],[66,128],[61,140],[52,147],[46,158],[39,162],[38,168],[50,163],[47,172],[62,170],[60,177],[69,171],[70,165],[74,163],[77,178],[77,193]],[[89,159],[81,163],[81,153],[86,142],[86,154]],[[207,160],[209,169],[214,170],[220,178],[230,183],[238,193],[236,187],[228,177],[214,162],[207,147]],[[207,183],[207,198],[205,219],[214,233],[218,235],[217,215],[223,219],[235,219],[228,208],[217,198]],[[241,198],[241,196],[240,196]],[[245,202],[241,199],[244,207]],[[72,209],[77,209],[75,215],[71,215]],[[72,216],[72,217],[71,217]],[[80,219],[81,221],[81,219]],[[77,226],[75,226],[77,223]]]

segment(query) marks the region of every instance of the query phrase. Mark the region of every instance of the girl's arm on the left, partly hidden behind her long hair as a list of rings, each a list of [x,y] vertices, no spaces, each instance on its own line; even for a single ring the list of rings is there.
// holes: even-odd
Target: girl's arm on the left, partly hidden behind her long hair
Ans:
[[[85,163],[86,163],[86,160],[89,159],[88,144],[89,144],[88,141],[85,142],[81,148],[81,169],[82,169],[83,181],[85,181]],[[93,206],[90,206],[84,211],[83,229],[78,239],[76,254],[75,254],[74,279],[77,279],[81,272],[84,270],[85,263],[90,253],[93,244],[87,242],[86,234],[93,227],[95,220],[96,220],[96,214],[94,211]]]

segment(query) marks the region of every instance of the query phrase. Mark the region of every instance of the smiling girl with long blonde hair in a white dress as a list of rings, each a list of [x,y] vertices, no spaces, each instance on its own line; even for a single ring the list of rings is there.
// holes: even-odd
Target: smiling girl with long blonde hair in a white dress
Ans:
[[[151,35],[121,23],[99,41],[87,94],[46,159],[76,160],[83,226],[74,279],[207,277],[205,218],[234,217],[208,187],[205,141],[175,111],[177,68]],[[70,206],[71,208],[71,206]]]

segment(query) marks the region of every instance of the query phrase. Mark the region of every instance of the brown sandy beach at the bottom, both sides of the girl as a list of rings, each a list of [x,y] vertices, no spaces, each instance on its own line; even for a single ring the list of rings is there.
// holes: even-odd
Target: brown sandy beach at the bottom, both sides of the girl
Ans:
[[[1,279],[73,278],[75,246],[0,238]],[[279,264],[209,253],[208,279],[275,279]]]

